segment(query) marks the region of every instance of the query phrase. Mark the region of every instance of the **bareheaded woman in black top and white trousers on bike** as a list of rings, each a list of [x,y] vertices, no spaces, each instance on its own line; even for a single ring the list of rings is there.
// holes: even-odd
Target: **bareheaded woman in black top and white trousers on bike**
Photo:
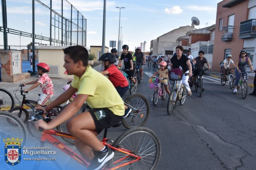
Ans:
[[[179,81],[179,88],[181,83],[186,87],[188,95],[192,95],[191,89],[188,84],[188,78],[192,76],[192,66],[188,57],[182,54],[183,47],[178,45],[176,47],[176,55],[171,58],[171,68],[172,69],[179,69],[179,66],[182,67],[183,73],[189,73],[189,76],[182,76],[182,81]]]

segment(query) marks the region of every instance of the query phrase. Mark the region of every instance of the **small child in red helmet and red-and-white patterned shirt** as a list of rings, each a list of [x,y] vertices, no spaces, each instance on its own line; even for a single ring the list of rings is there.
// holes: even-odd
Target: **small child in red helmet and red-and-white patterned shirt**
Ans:
[[[40,94],[40,98],[37,101],[37,106],[44,106],[46,102],[53,96],[53,84],[52,80],[46,74],[49,72],[49,66],[46,63],[38,63],[37,64],[37,73],[40,75],[40,78],[35,81],[31,81],[28,83],[23,83],[24,86],[28,84],[34,84],[28,89],[24,89],[23,92],[28,92],[31,89],[36,88],[37,86],[42,87],[42,92]]]

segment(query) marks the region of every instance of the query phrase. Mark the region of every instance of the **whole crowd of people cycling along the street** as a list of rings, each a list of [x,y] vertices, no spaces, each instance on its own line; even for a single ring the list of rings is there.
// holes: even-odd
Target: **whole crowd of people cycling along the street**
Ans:
[[[74,80],[69,89],[52,101],[52,103],[46,107],[42,107],[43,104],[38,102],[36,107],[36,109],[43,110],[44,113],[46,113],[53,107],[57,107],[67,101],[77,92],[76,98],[65,107],[62,113],[60,113],[56,119],[52,120],[52,122],[46,123],[39,120],[35,123],[36,128],[41,127],[46,130],[54,128],[70,119],[78,112],[85,101],[92,108],[89,111],[72,117],[67,123],[68,131],[78,139],[75,142],[77,149],[83,157],[92,162],[88,170],[100,169],[106,162],[114,157],[114,152],[107,146],[104,146],[96,135],[99,134],[102,129],[117,124],[131,112],[131,110],[124,105],[121,98],[129,88],[126,78],[124,78],[118,68],[123,66],[129,79],[133,81],[133,86],[137,86],[136,79],[134,79],[134,70],[135,65],[139,65],[141,78],[137,81],[143,82],[143,68],[146,63],[145,54],[141,51],[140,47],[136,48],[134,54],[128,52],[128,45],[123,45],[122,49],[123,52],[120,57],[115,48],[111,49],[111,53],[102,54],[99,61],[102,62],[104,70],[97,72],[88,65],[89,55],[86,48],[79,45],[65,48],[63,50],[65,54],[65,73],[74,75]],[[208,66],[208,69],[211,68],[209,62],[204,57],[204,51],[199,51],[198,57],[194,58],[190,50],[186,51],[186,55],[183,54],[183,50],[183,47],[179,45],[176,47],[176,52],[173,54],[173,57],[170,58],[168,55],[164,57],[152,55],[147,58],[147,61],[157,66],[157,71],[151,78],[156,75],[159,75],[159,78],[168,78],[170,76],[170,70],[180,69],[182,71],[182,79],[179,81],[179,88],[181,84],[183,84],[187,90],[187,94],[192,95],[191,86],[193,84],[191,84],[191,82],[193,82],[198,75],[198,70],[203,69],[205,64]],[[231,54],[227,55],[227,59],[223,61],[221,70],[222,74],[225,75],[230,66],[234,65],[236,75],[234,93],[236,93],[236,86],[238,85],[241,74],[247,75],[247,65],[250,67],[251,72],[254,72],[254,70],[250,58],[247,56],[247,51],[244,49],[241,50],[236,62],[231,60],[231,57]],[[38,81],[24,83],[24,85],[34,84],[31,88],[24,91],[34,89],[41,84],[43,85],[42,94],[45,93],[46,95],[44,98],[40,98],[39,101],[44,101],[53,95],[53,86],[47,85],[47,83],[51,84],[51,81],[45,78],[47,77],[46,72],[49,72],[49,66],[46,63],[39,63],[37,68],[41,78]],[[167,80],[163,79],[160,82],[164,84],[166,92],[170,95]],[[254,96],[256,96],[255,83],[256,80],[254,78],[254,91],[250,93],[250,95]],[[50,89],[52,93],[49,93]],[[90,152],[90,149],[93,149],[93,154]]]

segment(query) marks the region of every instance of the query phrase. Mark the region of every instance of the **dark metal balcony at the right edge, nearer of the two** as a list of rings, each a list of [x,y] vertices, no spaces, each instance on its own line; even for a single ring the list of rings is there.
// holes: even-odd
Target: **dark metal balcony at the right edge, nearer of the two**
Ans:
[[[239,39],[251,39],[256,37],[256,19],[240,22]]]

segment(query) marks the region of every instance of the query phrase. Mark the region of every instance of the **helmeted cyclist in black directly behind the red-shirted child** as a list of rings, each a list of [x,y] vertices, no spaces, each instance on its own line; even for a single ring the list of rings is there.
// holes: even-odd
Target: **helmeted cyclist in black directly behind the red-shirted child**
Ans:
[[[134,75],[133,56],[132,56],[132,54],[128,53],[128,50],[129,50],[128,45],[123,45],[122,49],[123,49],[123,53],[121,54],[121,57],[120,57],[120,60],[119,60],[117,66],[119,66],[121,63],[121,60],[123,60],[125,72],[129,76],[129,79],[131,81],[133,81],[133,86],[136,87],[137,82],[133,78],[133,75]],[[129,69],[129,70],[127,70],[127,69]]]

